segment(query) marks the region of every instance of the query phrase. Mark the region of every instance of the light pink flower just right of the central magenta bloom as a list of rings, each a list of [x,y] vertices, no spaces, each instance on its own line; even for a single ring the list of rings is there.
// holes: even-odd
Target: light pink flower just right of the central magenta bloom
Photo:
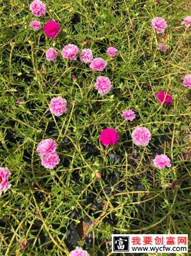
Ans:
[[[132,139],[137,146],[147,146],[151,140],[151,132],[146,127],[137,127],[132,132]]]

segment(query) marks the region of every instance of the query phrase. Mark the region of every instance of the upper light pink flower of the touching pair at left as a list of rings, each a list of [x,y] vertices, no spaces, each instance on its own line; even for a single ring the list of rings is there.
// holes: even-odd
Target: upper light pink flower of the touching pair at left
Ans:
[[[36,151],[38,152],[39,156],[45,156],[48,153],[55,153],[57,148],[57,143],[52,139],[46,139],[40,141]]]

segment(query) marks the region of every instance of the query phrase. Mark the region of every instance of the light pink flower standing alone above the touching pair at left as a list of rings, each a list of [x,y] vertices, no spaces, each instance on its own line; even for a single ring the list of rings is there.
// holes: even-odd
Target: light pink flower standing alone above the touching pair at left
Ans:
[[[66,113],[68,109],[66,108],[67,101],[62,97],[52,98],[50,101],[50,112],[56,116],[61,116]]]

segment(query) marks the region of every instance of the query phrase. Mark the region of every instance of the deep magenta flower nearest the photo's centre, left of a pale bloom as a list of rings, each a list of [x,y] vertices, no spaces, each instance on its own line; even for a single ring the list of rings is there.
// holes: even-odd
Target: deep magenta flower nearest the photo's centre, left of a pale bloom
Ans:
[[[100,134],[100,141],[104,146],[116,145],[119,140],[119,134],[116,130],[107,128],[104,129]]]

